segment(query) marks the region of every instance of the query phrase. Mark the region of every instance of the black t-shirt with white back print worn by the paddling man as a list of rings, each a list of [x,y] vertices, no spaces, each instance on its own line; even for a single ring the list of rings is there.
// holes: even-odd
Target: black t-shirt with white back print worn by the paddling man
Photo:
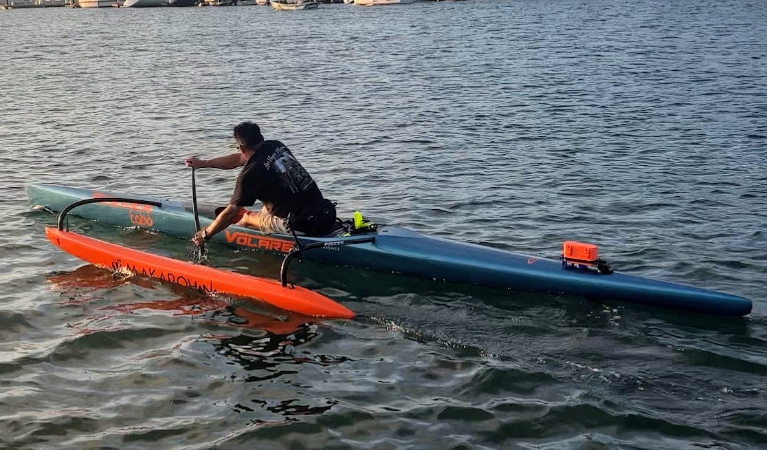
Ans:
[[[270,214],[288,217],[322,200],[317,184],[280,141],[264,141],[237,177],[229,203],[250,207],[261,200]]]

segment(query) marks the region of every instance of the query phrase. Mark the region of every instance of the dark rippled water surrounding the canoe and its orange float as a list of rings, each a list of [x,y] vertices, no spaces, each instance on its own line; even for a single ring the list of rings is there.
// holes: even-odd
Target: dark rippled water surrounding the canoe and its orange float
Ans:
[[[562,0],[0,14],[0,448],[764,448],[767,9]],[[30,182],[189,198],[251,119],[339,203],[747,296],[722,319],[304,263],[310,321],[115,279]],[[222,201],[235,173],[199,174]],[[185,257],[189,244],[77,223]],[[275,276],[275,256],[210,263]]]

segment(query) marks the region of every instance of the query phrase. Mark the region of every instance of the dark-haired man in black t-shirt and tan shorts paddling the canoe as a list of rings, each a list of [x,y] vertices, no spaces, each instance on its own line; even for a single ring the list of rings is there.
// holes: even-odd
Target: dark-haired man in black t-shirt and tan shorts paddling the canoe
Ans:
[[[235,154],[184,160],[194,168],[242,167],[229,205],[194,235],[194,243],[209,240],[232,223],[264,233],[290,233],[291,228],[309,236],[331,232],[336,217],[333,203],[322,197],[317,184],[285,144],[265,141],[258,125],[249,121],[234,127],[234,137],[239,149]],[[264,205],[261,211],[245,210],[256,200]]]

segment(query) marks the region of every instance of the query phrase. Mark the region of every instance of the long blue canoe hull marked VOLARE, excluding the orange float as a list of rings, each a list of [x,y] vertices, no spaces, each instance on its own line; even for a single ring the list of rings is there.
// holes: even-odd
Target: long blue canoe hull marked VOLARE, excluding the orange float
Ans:
[[[145,228],[183,238],[189,238],[196,230],[192,203],[57,185],[28,186],[30,203],[54,212],[77,200],[97,197],[154,200],[160,206],[110,202],[84,205],[75,213],[118,227]],[[199,219],[203,227],[212,222],[217,207],[210,203],[199,205]],[[300,245],[305,249],[313,248],[303,254],[307,259],[337,266],[452,283],[615,299],[694,313],[745,316],[752,309],[751,300],[741,296],[625,273],[601,273],[588,268],[564,266],[560,260],[428,237],[390,225],[381,225],[376,230],[351,236],[296,238],[229,227],[216,234],[211,242],[238,250],[274,253],[288,253]],[[354,244],[347,245],[349,243]]]

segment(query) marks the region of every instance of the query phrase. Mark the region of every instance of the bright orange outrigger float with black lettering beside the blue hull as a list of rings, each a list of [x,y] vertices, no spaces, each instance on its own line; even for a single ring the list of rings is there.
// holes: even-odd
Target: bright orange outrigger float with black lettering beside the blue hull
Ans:
[[[354,317],[354,313],[340,303],[300,286],[283,287],[277,281],[186,263],[54,227],[46,227],[45,236],[61,250],[105,269],[129,271],[203,293],[262,299],[273,306],[304,316],[339,319]]]

